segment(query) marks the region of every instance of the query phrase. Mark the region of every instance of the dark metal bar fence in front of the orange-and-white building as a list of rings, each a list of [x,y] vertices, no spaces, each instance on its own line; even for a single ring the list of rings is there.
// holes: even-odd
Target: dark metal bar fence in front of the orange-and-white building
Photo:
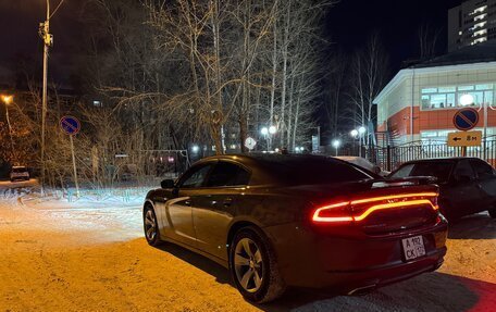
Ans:
[[[496,136],[485,138],[481,147],[468,147],[466,153],[463,148],[448,147],[446,142],[418,141],[397,147],[369,147],[362,155],[387,171],[412,160],[463,155],[483,159],[496,167]]]

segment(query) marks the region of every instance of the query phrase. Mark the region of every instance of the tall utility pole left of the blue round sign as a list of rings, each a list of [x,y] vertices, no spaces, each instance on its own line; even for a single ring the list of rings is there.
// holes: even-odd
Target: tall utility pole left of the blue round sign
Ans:
[[[41,195],[45,185],[45,127],[47,120],[47,85],[48,85],[48,50],[53,45],[53,36],[50,34],[50,0],[47,0],[47,20],[39,24],[39,36],[44,40],[44,89],[41,103]]]

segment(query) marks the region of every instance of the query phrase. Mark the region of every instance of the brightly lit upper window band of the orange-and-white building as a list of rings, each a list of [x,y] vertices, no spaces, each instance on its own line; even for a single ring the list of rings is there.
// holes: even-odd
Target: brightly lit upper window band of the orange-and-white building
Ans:
[[[493,84],[449,86],[438,88],[422,88],[422,110],[443,110],[461,107],[459,99],[463,95],[471,95],[474,99],[472,107],[493,104]]]

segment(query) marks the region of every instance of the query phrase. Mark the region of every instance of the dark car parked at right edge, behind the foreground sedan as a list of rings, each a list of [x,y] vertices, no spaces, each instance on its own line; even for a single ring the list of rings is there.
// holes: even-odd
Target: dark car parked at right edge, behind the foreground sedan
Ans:
[[[488,211],[496,217],[496,171],[476,158],[418,160],[404,163],[389,178],[434,176],[439,209],[449,220]]]

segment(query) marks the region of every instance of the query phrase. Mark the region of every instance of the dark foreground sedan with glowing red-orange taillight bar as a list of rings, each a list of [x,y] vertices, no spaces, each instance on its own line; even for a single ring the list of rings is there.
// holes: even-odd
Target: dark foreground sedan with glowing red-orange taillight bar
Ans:
[[[287,286],[367,292],[434,271],[446,253],[437,186],[312,155],[201,160],[147,195],[144,224],[151,246],[221,263],[259,303]]]

